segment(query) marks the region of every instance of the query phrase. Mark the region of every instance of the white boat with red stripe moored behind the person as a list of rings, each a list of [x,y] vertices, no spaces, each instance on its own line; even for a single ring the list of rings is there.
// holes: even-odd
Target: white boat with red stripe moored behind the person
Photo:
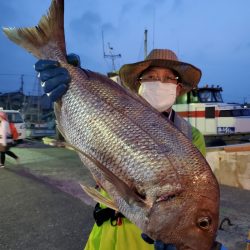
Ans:
[[[250,108],[227,103],[217,85],[198,87],[177,98],[173,109],[201,131],[207,146],[250,141]]]

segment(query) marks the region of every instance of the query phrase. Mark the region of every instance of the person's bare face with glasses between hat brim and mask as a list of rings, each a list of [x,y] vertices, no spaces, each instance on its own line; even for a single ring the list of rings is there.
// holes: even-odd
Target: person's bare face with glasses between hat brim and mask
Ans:
[[[181,84],[178,82],[178,77],[174,74],[171,69],[161,68],[161,67],[151,67],[145,70],[141,77],[141,82],[154,82],[154,81],[161,81],[162,83],[174,83],[177,85],[176,88],[176,96],[180,95],[180,91],[182,89]]]

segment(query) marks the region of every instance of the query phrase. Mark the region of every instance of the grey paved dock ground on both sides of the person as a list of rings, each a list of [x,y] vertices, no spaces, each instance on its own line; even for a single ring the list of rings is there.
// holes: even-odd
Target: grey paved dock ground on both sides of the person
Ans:
[[[83,249],[91,227],[93,201],[79,183],[93,184],[75,152],[26,143],[13,148],[21,164],[7,156],[0,169],[0,249]],[[221,186],[218,240],[229,250],[245,250],[250,230],[250,191]]]

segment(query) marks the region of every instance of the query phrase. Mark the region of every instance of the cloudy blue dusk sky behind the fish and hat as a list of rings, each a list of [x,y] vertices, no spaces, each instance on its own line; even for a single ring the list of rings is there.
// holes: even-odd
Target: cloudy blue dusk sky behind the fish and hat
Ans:
[[[1,27],[35,26],[50,0],[0,1]],[[144,30],[148,52],[168,48],[179,60],[203,72],[199,86],[220,85],[225,101],[250,102],[249,0],[65,0],[67,52],[81,57],[82,67],[106,74],[112,71],[108,43],[116,69],[144,58]],[[33,69],[37,61],[0,33],[0,92],[20,88],[36,93]]]

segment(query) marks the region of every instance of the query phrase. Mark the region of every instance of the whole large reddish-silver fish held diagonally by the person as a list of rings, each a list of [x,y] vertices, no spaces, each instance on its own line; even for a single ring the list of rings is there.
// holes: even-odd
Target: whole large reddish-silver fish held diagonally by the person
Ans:
[[[112,201],[92,189],[88,194],[112,203],[152,239],[178,250],[210,250],[219,187],[205,158],[142,98],[67,64],[63,14],[64,1],[52,0],[38,26],[4,32],[37,58],[57,60],[69,71],[69,89],[55,105],[58,127]]]

